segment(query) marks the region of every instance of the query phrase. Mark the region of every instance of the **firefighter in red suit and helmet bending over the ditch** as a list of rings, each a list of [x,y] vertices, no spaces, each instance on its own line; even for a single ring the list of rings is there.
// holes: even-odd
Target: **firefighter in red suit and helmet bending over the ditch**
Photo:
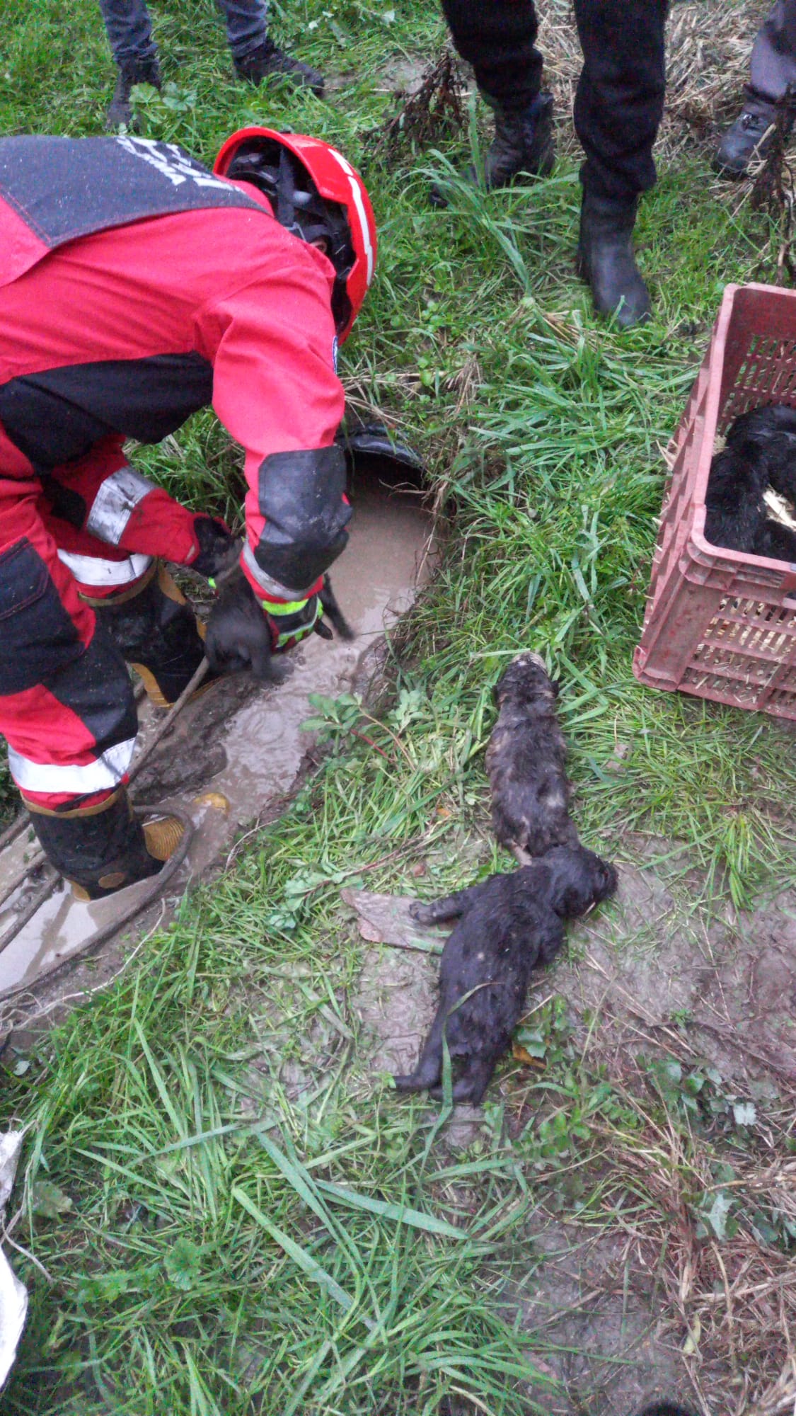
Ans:
[[[0,140],[0,732],[82,898],[176,844],[127,801],[126,666],[174,702],[204,646],[161,558],[210,579],[232,547],[125,443],[207,405],[242,443],[244,551],[207,646],[215,671],[262,671],[313,629],[347,541],[336,354],[374,262],[365,188],[314,139],[246,129],[212,173],[139,137]]]

